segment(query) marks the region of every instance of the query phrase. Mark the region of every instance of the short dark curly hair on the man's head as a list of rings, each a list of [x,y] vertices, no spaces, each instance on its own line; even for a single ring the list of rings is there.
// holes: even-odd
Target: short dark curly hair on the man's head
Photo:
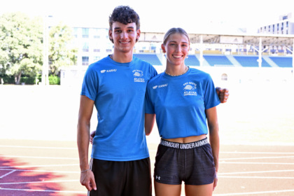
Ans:
[[[109,29],[112,29],[113,22],[120,22],[123,25],[134,22],[137,27],[136,30],[140,29],[139,15],[129,6],[116,7],[109,16]],[[111,40],[111,42],[113,42],[111,38],[109,39]]]

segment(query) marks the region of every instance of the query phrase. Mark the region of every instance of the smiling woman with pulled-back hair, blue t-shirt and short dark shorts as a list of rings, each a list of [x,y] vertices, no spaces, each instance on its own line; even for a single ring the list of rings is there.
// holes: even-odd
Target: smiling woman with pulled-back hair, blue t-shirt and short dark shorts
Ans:
[[[186,31],[169,29],[162,43],[167,68],[147,85],[146,117],[155,114],[162,138],[155,158],[156,196],[181,195],[182,182],[188,196],[212,195],[217,183],[221,102],[211,76],[185,65],[189,50]]]

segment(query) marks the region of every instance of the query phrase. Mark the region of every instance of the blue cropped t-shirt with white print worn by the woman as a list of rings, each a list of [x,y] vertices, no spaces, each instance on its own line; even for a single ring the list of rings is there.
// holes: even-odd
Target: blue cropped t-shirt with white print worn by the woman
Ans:
[[[181,76],[160,73],[147,85],[146,113],[156,114],[160,137],[207,134],[206,109],[220,104],[211,76],[189,68]]]

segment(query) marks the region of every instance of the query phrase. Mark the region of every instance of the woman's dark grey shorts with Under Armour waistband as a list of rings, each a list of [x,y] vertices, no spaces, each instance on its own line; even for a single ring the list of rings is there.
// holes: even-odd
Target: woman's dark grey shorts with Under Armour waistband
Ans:
[[[155,158],[154,179],[158,183],[205,185],[214,182],[216,169],[208,139],[188,144],[161,140]]]

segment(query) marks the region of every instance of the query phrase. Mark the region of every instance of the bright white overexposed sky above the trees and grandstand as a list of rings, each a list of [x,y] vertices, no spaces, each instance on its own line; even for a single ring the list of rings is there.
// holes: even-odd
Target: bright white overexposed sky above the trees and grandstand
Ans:
[[[29,15],[52,15],[71,25],[108,28],[113,8],[127,5],[139,14],[141,31],[165,32],[182,27],[189,34],[234,34],[246,28],[254,34],[262,25],[294,13],[293,0],[0,0],[0,14],[21,11]],[[294,14],[293,14],[294,18]]]

